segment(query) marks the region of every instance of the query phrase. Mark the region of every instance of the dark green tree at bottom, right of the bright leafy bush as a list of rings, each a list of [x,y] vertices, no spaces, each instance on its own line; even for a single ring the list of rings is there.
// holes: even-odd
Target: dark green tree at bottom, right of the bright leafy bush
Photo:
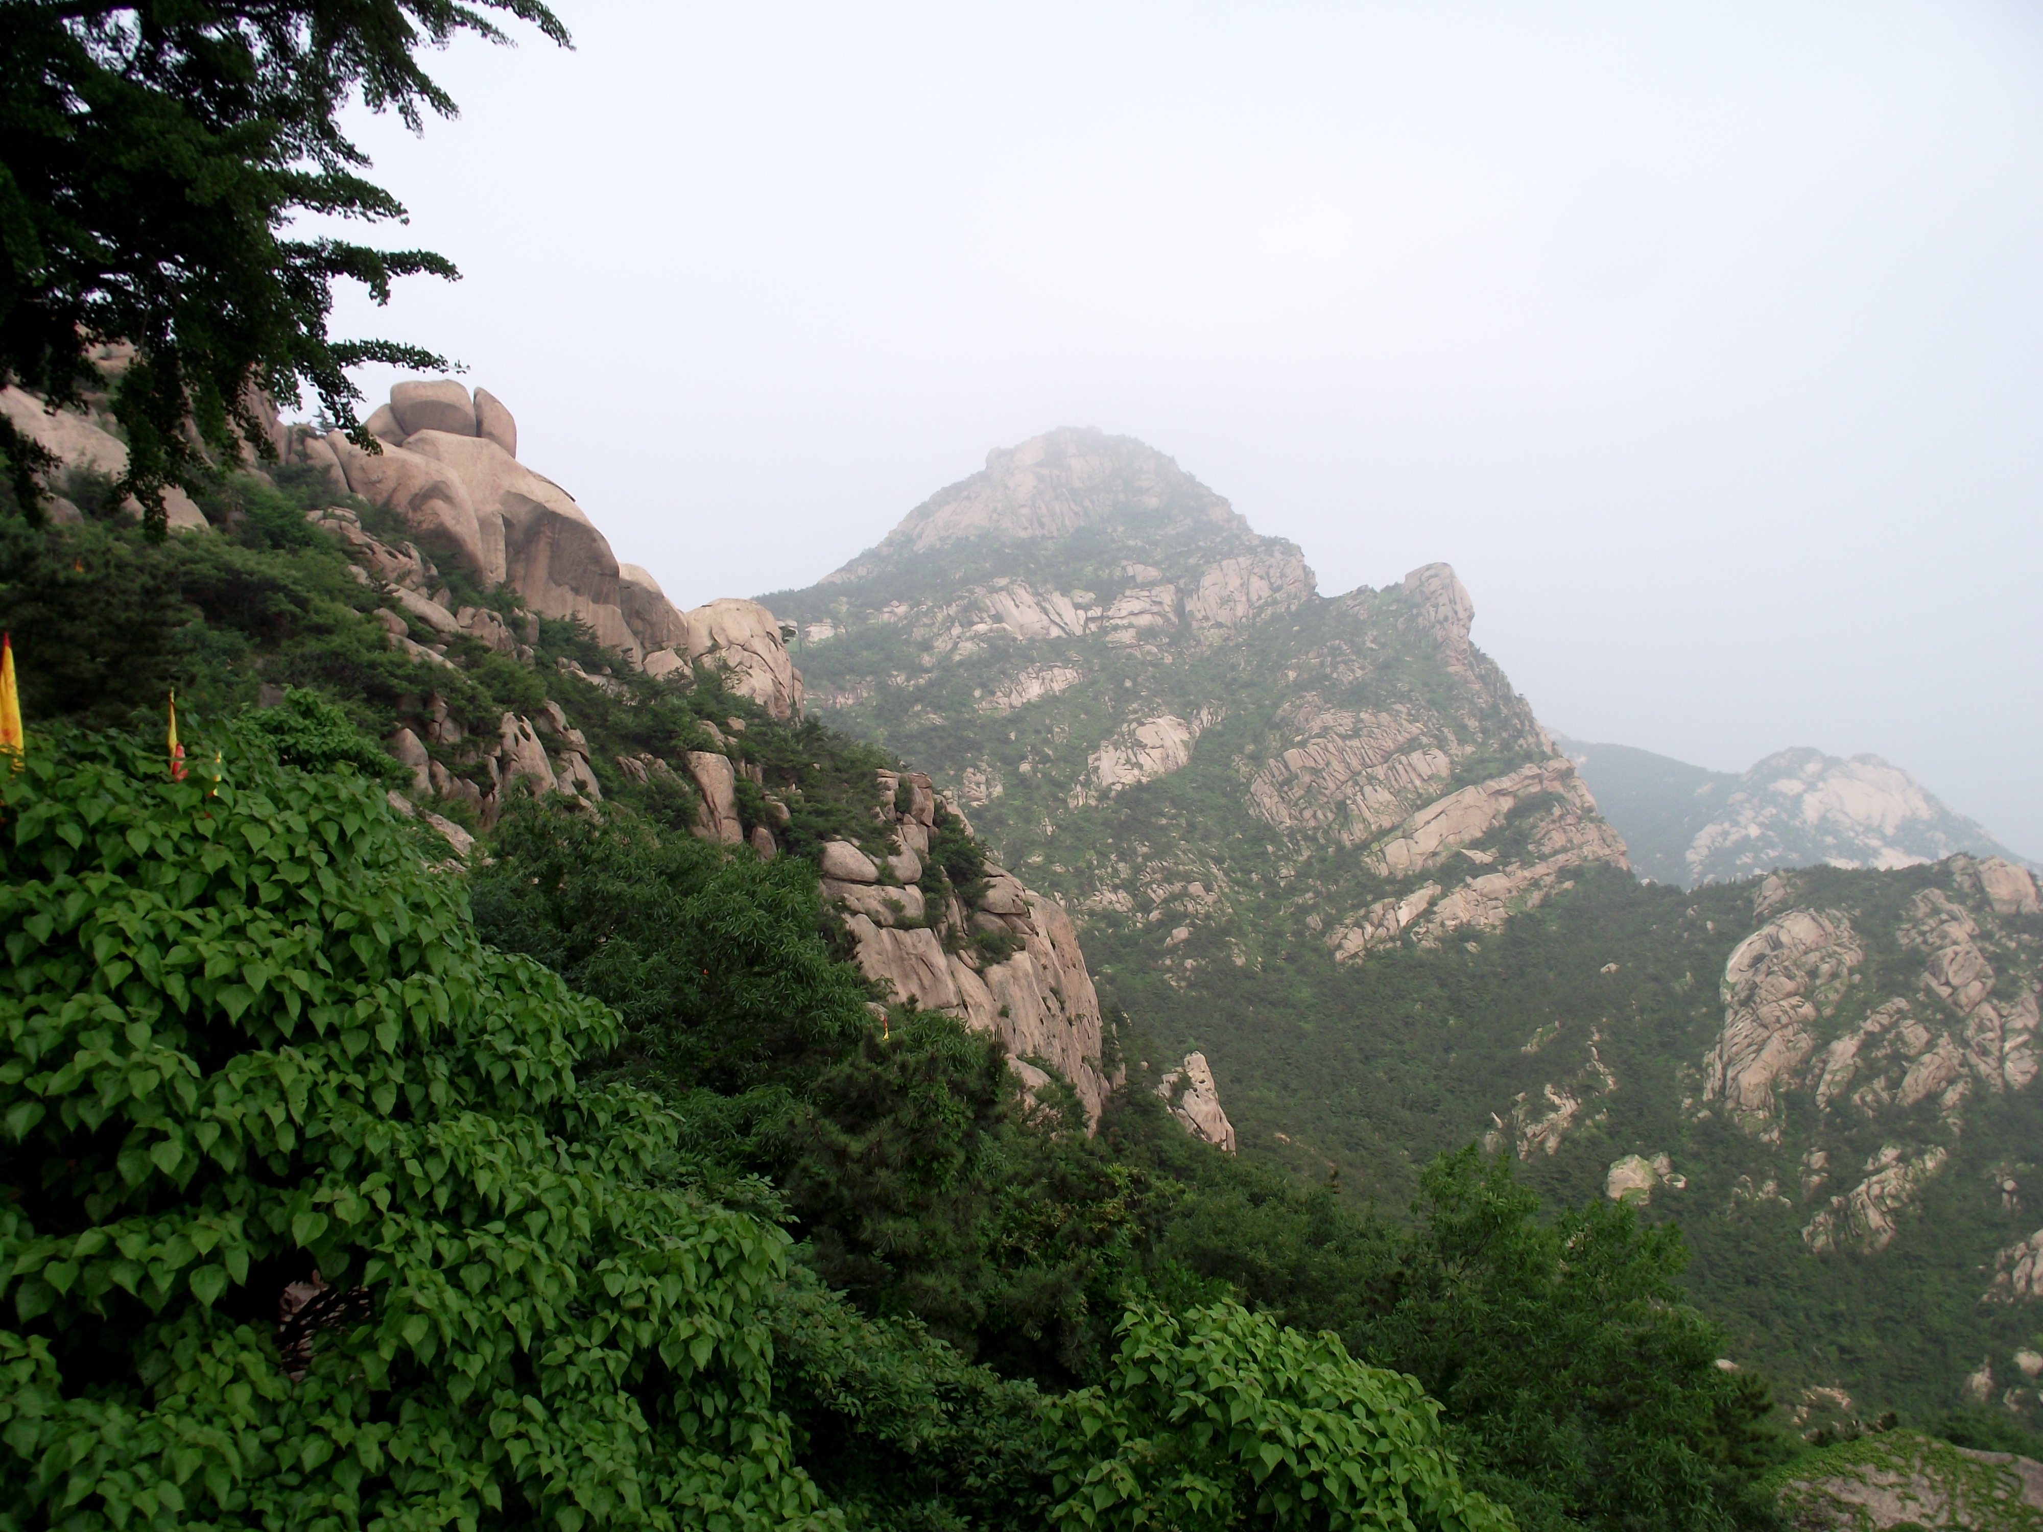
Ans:
[[[1420,1228],[1387,1273],[1367,1352],[1467,1426],[1479,1483],[1528,1526],[1710,1528],[1761,1516],[1765,1387],[1716,1367],[1683,1301],[1679,1232],[1596,1199],[1540,1215],[1508,1154],[1422,1175]]]

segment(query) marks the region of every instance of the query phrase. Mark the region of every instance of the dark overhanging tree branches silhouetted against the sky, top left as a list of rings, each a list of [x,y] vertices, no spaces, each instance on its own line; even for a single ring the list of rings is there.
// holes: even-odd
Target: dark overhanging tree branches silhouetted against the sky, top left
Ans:
[[[501,39],[486,10],[568,41],[539,0],[0,8],[0,384],[78,406],[100,386],[94,347],[137,347],[112,413],[129,439],[123,490],[155,507],[157,531],[161,488],[196,488],[204,447],[268,451],[249,390],[298,398],[308,382],[353,427],[362,394],[343,368],[445,368],[413,345],[327,337],[337,278],[382,302],[398,276],[456,276],[443,257],[292,237],[288,225],[405,219],[358,174],[368,161],[339,116],[353,100],[413,129],[425,110],[452,114],[417,53],[462,33]],[[35,505],[49,458],[4,419],[0,453]]]

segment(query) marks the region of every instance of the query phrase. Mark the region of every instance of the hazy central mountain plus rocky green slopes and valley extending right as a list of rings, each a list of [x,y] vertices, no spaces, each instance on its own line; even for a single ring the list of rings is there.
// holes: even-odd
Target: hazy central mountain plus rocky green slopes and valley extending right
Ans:
[[[1481,1142],[1557,1203],[1679,1224],[1688,1291],[1804,1426],[1986,1397],[2043,1424],[2012,1275],[2023,868],[1643,884],[1451,570],[1320,596],[1295,547],[1124,437],[995,451],[768,601],[813,707],[956,780],[1068,899],[1134,1076],[1203,1054],[1246,1160],[1399,1207]],[[1810,803],[1859,803],[1833,776]],[[1685,850],[1649,840],[1655,866]]]

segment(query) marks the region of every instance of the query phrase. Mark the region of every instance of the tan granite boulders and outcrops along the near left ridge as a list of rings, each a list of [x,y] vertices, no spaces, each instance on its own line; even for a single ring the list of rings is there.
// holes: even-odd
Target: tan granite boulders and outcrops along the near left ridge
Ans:
[[[125,468],[106,417],[49,413],[20,390],[6,390],[0,406],[67,470],[114,476]],[[306,519],[347,552],[353,578],[376,601],[384,641],[421,670],[407,709],[413,721],[386,741],[411,772],[409,795],[390,795],[400,813],[421,817],[466,858],[472,827],[492,825],[513,795],[558,793],[597,809],[609,780],[613,793],[631,784],[693,795],[695,833],[733,854],[785,850],[787,799],[799,788],[768,776],[740,717],[725,727],[697,719],[699,737],[678,750],[605,758],[560,701],[505,711],[478,729],[441,695],[490,658],[533,666],[539,623],[552,619],[578,625],[592,654],[607,656],[607,664],[568,656],[556,664],[611,703],[639,705],[644,682],[686,690],[705,668],[762,711],[756,727],[799,725],[803,678],[766,607],[725,599],[678,611],[646,570],[617,560],[566,490],[517,460],[517,421],[484,388],[396,384],[366,421],[378,451],[282,423],[274,411],[268,423],[276,464],[313,470],[331,488],[335,502]],[[55,509],[59,519],[80,515],[67,500]],[[210,531],[182,494],[170,511],[172,531]],[[470,594],[458,596],[456,584]],[[764,817],[750,823],[746,793],[764,805]],[[846,921],[856,962],[878,993],[999,1036],[1026,1089],[1040,1095],[1058,1074],[1097,1128],[1120,1076],[1103,1064],[1099,999],[1062,907],[997,864],[962,895],[940,880],[944,903],[923,903],[919,858],[938,819],[952,813],[928,776],[878,772],[864,842],[889,854],[872,858],[852,840],[823,844],[819,891]],[[954,823],[970,835],[962,815]]]

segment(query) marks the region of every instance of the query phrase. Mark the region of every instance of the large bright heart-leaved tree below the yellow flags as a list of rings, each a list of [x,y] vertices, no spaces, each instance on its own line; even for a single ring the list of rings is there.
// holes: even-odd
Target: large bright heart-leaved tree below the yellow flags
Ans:
[[[0,793],[6,1526],[821,1522],[787,1238],[576,1085],[615,1013],[480,946],[380,788],[80,741]]]

